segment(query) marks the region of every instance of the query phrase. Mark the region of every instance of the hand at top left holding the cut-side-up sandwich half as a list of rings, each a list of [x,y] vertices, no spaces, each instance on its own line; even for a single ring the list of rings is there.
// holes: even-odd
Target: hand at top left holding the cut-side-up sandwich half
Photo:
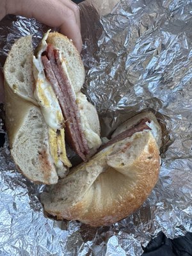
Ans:
[[[57,27],[60,33],[72,39],[81,52],[80,12],[70,0],[0,0],[0,20],[7,14],[21,15]],[[0,103],[4,102],[3,74],[0,70]]]

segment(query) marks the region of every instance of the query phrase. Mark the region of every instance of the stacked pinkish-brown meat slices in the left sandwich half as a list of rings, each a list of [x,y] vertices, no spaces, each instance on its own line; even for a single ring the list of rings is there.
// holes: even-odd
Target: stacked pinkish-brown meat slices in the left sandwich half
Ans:
[[[72,90],[67,74],[64,72],[60,60],[60,52],[52,45],[47,45],[47,49],[42,56],[45,76],[51,83],[54,93],[58,97],[60,107],[65,119],[66,139],[76,153],[86,161],[89,154],[87,141],[81,129],[79,109],[76,104],[76,94]]]

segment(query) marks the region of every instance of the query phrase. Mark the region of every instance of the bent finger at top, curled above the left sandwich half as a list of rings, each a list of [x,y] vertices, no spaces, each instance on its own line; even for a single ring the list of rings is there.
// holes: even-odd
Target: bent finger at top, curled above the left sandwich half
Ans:
[[[66,4],[60,0],[12,0],[10,3],[9,13],[33,17],[48,26],[60,28],[81,52],[81,31],[75,13]]]

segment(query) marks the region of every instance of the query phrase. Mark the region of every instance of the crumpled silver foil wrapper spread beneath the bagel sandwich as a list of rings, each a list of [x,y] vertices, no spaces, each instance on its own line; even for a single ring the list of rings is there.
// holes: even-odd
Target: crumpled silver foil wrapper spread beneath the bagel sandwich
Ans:
[[[192,231],[191,15],[191,0],[120,1],[103,17],[81,4],[83,92],[97,106],[102,136],[153,109],[163,127],[159,181],[138,211],[110,227],[45,218],[38,199],[44,186],[15,170],[1,122],[0,255],[141,255],[161,230],[171,238]],[[6,17],[1,66],[15,38],[33,34],[37,44],[46,29],[34,19]]]

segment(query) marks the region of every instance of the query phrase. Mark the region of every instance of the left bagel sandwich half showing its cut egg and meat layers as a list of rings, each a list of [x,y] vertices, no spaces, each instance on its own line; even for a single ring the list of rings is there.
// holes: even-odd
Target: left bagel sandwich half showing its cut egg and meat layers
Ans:
[[[100,147],[95,107],[81,93],[84,67],[74,44],[60,33],[13,45],[4,64],[6,127],[18,169],[34,182],[55,184],[72,166],[65,141],[83,161]]]

